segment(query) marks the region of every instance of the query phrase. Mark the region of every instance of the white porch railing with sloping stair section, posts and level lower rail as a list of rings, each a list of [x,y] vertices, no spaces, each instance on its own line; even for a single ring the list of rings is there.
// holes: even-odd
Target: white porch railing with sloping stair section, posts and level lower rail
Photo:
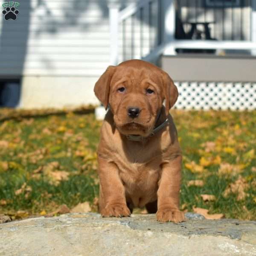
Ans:
[[[256,1],[251,1],[250,41],[175,39],[175,0],[142,0],[120,12],[112,4],[109,9],[111,64],[131,58],[155,61],[161,54],[177,54],[176,49],[248,50],[256,55]]]

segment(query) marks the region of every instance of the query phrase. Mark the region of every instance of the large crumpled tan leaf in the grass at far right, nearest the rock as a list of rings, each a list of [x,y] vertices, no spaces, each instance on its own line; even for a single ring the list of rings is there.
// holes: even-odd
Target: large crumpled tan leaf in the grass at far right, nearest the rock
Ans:
[[[222,195],[224,196],[224,198],[227,198],[227,196],[231,192],[234,194],[237,193],[238,195],[236,200],[240,201],[248,196],[248,194],[244,192],[244,190],[248,188],[249,188],[249,184],[247,183],[247,181],[244,179],[244,177],[239,175],[238,179],[234,183],[230,183],[227,186],[227,188],[225,189]]]

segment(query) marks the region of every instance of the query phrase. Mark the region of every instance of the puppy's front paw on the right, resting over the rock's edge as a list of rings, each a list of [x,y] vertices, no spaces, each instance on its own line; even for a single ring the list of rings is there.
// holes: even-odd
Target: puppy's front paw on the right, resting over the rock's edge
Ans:
[[[163,208],[157,211],[157,221],[173,221],[175,223],[182,222],[185,220],[184,212],[180,212],[173,208]]]

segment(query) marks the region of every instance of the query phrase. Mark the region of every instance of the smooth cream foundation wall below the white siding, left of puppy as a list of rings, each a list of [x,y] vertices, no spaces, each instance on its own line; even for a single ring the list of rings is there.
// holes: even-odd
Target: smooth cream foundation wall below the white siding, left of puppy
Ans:
[[[98,105],[93,87],[97,77],[24,76],[20,108],[72,108]]]

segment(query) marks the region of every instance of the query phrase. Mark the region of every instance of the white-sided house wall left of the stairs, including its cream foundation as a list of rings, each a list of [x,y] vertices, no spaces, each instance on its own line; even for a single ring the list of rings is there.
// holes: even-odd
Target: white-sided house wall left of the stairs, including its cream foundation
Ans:
[[[17,20],[0,21],[0,78],[22,77],[20,107],[98,104],[93,86],[109,65],[108,0],[19,2]],[[119,0],[122,8],[132,2]]]

